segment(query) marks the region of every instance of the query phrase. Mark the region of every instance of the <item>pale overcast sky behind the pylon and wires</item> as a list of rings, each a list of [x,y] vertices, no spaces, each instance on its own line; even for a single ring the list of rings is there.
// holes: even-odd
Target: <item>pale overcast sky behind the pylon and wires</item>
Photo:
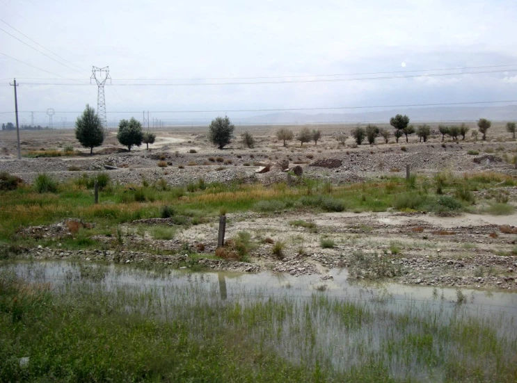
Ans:
[[[78,83],[59,80],[54,74],[89,83],[92,65],[109,65],[113,86],[106,86],[108,112],[223,111],[153,114],[164,120],[215,117],[234,109],[517,99],[517,65],[507,68],[508,72],[427,78],[260,85],[116,85],[218,82],[125,79],[308,76],[517,64],[516,16],[514,0],[0,0],[0,28],[77,70],[56,63],[0,31],[0,83],[18,79],[20,111],[81,111],[87,103],[97,108],[95,85],[25,84]],[[50,54],[5,22],[77,67]],[[482,70],[465,72],[479,71]],[[52,80],[29,79],[34,77]],[[358,77],[372,75],[305,80]],[[301,79],[269,81],[279,80]],[[0,112],[13,110],[13,87],[2,85]],[[228,112],[234,118],[257,114]],[[109,113],[108,120],[129,115]],[[77,116],[56,113],[54,123],[61,122],[61,117],[70,122]],[[135,117],[141,119],[141,113]],[[20,118],[30,123],[29,114]],[[14,120],[5,114],[0,119]],[[38,119],[44,120],[42,115]]]

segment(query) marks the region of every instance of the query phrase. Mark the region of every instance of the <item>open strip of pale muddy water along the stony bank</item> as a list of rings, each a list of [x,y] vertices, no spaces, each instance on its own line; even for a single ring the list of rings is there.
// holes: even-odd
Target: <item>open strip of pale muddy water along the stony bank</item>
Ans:
[[[83,267],[88,266],[88,273]],[[319,275],[292,277],[289,274],[260,272],[189,272],[186,270],[149,271],[118,265],[69,263],[63,261],[20,261],[4,268],[14,268],[17,275],[35,282],[61,284],[73,280],[105,284],[106,286],[186,286],[194,282],[218,284],[219,298],[231,299],[244,292],[260,292],[260,296],[292,296],[310,298],[315,293],[351,302],[380,302],[385,308],[413,306],[439,307],[457,310],[459,291],[454,288],[408,286],[386,282],[357,282],[348,279],[346,270],[331,270],[333,279],[321,280]],[[97,272],[95,272],[97,270]],[[91,275],[90,275],[91,274]],[[461,305],[479,316],[504,313],[517,318],[517,293],[461,289],[465,303]]]

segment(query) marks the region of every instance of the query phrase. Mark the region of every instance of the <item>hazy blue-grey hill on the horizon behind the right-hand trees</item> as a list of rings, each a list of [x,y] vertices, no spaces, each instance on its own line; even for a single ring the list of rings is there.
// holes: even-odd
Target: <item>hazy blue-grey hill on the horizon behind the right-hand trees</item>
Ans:
[[[397,113],[408,115],[411,120],[425,122],[474,121],[484,117],[488,120],[517,120],[517,105],[506,106],[451,106],[431,108],[399,108],[388,111],[358,113],[294,113],[281,112],[253,117],[233,118],[241,124],[315,124],[328,122],[388,122]],[[230,116],[231,117],[231,116]]]

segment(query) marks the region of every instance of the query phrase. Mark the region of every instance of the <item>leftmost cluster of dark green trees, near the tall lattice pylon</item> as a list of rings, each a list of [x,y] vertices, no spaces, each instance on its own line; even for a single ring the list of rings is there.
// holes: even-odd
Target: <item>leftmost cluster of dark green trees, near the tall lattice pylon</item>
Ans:
[[[77,117],[75,138],[83,147],[90,148],[90,154],[93,154],[93,148],[101,146],[106,138],[106,131],[102,127],[99,115],[89,105],[86,105],[83,114]],[[149,149],[149,144],[154,143],[156,135],[150,131],[143,131],[141,122],[132,117],[130,120],[120,120],[117,139],[131,152],[132,147],[139,147],[142,143]]]

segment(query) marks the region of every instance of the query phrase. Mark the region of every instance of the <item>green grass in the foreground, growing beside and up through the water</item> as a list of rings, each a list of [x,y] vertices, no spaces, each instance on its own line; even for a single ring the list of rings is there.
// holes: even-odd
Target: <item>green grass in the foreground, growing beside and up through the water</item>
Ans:
[[[149,279],[168,272],[93,263],[52,288],[40,265],[24,267],[33,282],[0,271],[2,382],[509,383],[517,373],[510,319],[462,310],[460,295],[454,311],[390,309],[389,297],[269,295],[224,276],[156,288]]]

